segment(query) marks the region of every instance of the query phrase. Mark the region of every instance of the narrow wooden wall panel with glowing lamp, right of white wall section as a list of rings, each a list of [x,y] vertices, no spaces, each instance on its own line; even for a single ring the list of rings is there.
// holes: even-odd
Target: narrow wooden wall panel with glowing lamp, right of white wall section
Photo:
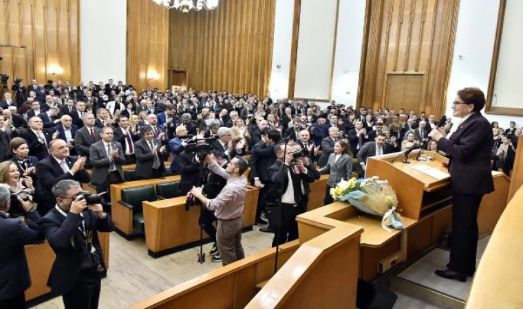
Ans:
[[[135,89],[167,87],[169,10],[153,1],[127,1],[127,82]]]

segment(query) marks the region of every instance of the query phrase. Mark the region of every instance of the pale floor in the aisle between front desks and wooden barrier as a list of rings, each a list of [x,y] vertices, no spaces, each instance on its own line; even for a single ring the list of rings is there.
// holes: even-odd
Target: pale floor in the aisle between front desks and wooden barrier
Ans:
[[[253,255],[270,248],[274,234],[262,233],[258,227],[243,234],[242,244],[246,255]],[[200,247],[187,249],[162,258],[153,259],[147,255],[145,240],[127,241],[111,233],[107,278],[102,280],[100,309],[127,308],[151,295],[186,282],[222,266],[211,262],[211,244],[204,245],[205,264],[198,263]],[[57,297],[33,308],[63,308],[61,297]]]

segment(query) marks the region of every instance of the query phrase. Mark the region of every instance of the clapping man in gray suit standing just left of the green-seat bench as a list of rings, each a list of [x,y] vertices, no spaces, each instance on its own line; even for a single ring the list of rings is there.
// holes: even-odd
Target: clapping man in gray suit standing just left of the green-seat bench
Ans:
[[[109,185],[124,181],[122,164],[125,162],[122,145],[113,141],[113,129],[103,127],[100,141],[92,144],[89,158],[93,165],[91,183],[96,187],[96,193],[109,192]],[[111,194],[104,194],[110,201]]]

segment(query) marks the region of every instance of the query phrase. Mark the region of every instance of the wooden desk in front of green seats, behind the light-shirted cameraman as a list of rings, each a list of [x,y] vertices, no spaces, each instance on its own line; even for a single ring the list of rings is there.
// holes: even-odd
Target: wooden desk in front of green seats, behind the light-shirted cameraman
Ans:
[[[255,223],[259,190],[248,186],[244,206],[244,228]],[[198,243],[200,207],[185,210],[186,196],[143,202],[145,242],[149,255],[158,258]],[[204,232],[204,239],[209,236]]]

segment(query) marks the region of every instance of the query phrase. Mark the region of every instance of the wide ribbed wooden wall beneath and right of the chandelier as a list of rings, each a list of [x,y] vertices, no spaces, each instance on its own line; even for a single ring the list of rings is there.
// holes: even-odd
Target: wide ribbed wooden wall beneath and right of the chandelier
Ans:
[[[169,67],[186,70],[189,87],[268,93],[275,0],[226,0],[217,9],[171,10]]]

